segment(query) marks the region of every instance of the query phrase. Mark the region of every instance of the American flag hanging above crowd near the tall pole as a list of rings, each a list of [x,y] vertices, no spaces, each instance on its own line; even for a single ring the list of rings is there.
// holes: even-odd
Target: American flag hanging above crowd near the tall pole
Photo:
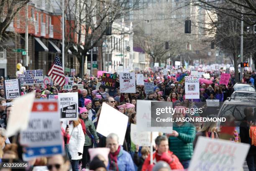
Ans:
[[[65,75],[58,54],[56,54],[54,64],[51,66],[48,76],[51,77],[54,82],[59,84],[59,86],[63,87],[65,85]]]

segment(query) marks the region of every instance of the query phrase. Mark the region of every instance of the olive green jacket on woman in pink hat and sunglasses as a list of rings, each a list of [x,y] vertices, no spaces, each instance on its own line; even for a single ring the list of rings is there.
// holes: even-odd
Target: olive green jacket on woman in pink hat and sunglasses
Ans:
[[[90,138],[89,135],[87,135],[87,132],[89,132],[94,137],[95,141],[99,140],[99,137],[97,136],[97,132],[92,121],[88,119],[88,117],[82,120],[84,121],[84,124],[86,126],[86,134],[84,135],[84,138],[85,138],[84,146],[89,146],[89,145],[92,145],[92,139]]]

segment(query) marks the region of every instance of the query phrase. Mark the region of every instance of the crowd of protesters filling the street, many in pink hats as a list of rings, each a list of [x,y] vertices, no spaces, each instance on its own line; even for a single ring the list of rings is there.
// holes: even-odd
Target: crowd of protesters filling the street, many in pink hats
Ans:
[[[47,94],[58,94],[66,92],[78,92],[79,102],[79,119],[70,121],[69,128],[61,128],[63,135],[63,143],[65,144],[66,156],[56,155],[49,158],[41,157],[33,161],[29,161],[30,168],[33,170],[37,166],[45,166],[49,171],[85,171],[86,168],[95,171],[159,171],[162,168],[166,170],[183,170],[189,167],[192,159],[194,148],[199,136],[209,138],[219,138],[216,123],[192,123],[176,122],[173,126],[173,132],[170,134],[159,135],[155,140],[153,164],[150,163],[150,148],[139,147],[131,141],[131,123],[136,124],[136,102],[137,100],[166,101],[172,102],[174,107],[192,107],[193,102],[206,102],[206,100],[219,100],[223,102],[234,92],[233,85],[236,83],[234,75],[228,85],[219,84],[220,75],[210,73],[211,83],[200,82],[200,98],[186,99],[184,82],[178,81],[177,78],[182,73],[166,75],[163,71],[149,72],[141,71],[144,75],[144,82],[153,82],[152,91],[145,93],[144,86],[136,86],[135,93],[121,93],[119,78],[117,77],[115,89],[105,89],[103,86],[97,88],[97,82],[101,82],[101,78],[74,77],[74,85],[72,89],[65,90],[58,84],[48,83],[46,87],[36,84],[34,86],[21,87],[22,94],[35,92],[35,98],[47,100]],[[187,73],[189,75],[189,73]],[[254,71],[249,78],[244,77],[243,81],[254,85],[256,75]],[[3,78],[0,80],[0,158],[2,161],[15,159],[22,161],[20,147],[17,138],[7,138],[5,136],[5,128],[8,123],[8,117],[11,115],[12,104],[5,100],[5,90]],[[83,84],[83,89],[78,89],[78,84]],[[57,99],[57,96],[56,96]],[[123,145],[119,145],[118,135],[111,133],[108,137],[104,137],[96,132],[97,123],[100,118],[102,103],[110,105],[116,110],[129,117],[127,131]],[[217,113],[213,113],[216,115]],[[174,118],[189,117],[186,113],[174,113]],[[195,117],[200,117],[195,115]],[[72,132],[71,132],[72,131]],[[246,130],[240,136],[234,130],[234,138],[230,138],[234,142],[250,143]],[[71,136],[72,135],[72,136]],[[67,145],[67,146],[66,146]],[[102,148],[92,158],[90,150]],[[105,155],[104,149],[108,148]],[[256,148],[252,146],[248,156],[248,166],[250,171],[255,171],[253,159],[256,161]],[[256,165],[256,163],[255,163]],[[252,170],[255,167],[255,170]]]

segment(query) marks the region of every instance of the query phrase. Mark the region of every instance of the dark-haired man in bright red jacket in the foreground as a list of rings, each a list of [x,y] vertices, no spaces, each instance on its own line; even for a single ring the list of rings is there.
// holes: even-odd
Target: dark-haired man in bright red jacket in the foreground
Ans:
[[[158,136],[155,140],[156,151],[153,153],[153,166],[158,161],[165,161],[169,164],[171,169],[183,169],[182,164],[179,162],[179,158],[168,148],[168,138],[166,136]],[[150,164],[150,155],[144,161],[141,171],[147,171],[152,168]]]

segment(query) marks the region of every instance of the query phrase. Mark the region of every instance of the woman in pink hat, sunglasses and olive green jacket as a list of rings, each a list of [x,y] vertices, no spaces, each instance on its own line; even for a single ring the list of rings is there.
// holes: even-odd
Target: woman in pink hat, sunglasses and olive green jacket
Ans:
[[[80,109],[79,117],[86,125],[86,134],[84,135],[85,141],[83,146],[84,153],[82,158],[82,168],[85,169],[88,162],[88,149],[92,148],[94,142],[99,143],[99,137],[97,136],[94,124],[88,117],[88,111],[86,107]]]

